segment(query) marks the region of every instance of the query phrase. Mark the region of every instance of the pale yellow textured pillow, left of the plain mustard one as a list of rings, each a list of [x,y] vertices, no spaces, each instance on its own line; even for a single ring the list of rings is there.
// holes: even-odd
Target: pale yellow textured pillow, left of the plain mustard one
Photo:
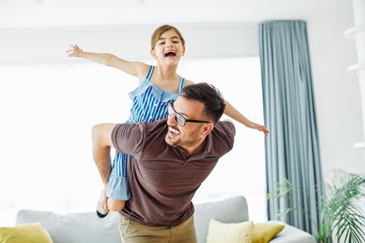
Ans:
[[[251,243],[252,221],[236,224],[224,224],[211,219],[206,243]]]

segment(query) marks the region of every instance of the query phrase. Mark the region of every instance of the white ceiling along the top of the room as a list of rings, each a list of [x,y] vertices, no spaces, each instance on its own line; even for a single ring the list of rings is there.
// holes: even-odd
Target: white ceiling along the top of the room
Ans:
[[[350,0],[1,0],[0,28],[260,22],[341,12]],[[330,8],[330,11],[328,11]]]

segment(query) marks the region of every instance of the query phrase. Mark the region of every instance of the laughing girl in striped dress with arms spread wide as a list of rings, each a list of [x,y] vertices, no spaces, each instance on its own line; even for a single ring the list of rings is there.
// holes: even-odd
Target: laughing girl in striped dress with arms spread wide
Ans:
[[[126,121],[133,124],[138,121],[155,121],[168,117],[168,104],[175,101],[186,85],[193,84],[176,73],[179,60],[185,53],[185,40],[174,26],[163,25],[156,28],[151,38],[151,55],[157,65],[149,66],[143,62],[129,62],[109,53],[84,52],[76,44],[67,50],[69,57],[81,57],[102,63],[138,77],[139,86],[129,93],[133,103],[131,115]],[[249,121],[232,105],[226,102],[225,114],[236,121],[268,134],[268,129]],[[129,156],[115,153],[111,175],[104,181],[104,190],[97,203],[97,215],[105,217],[108,210],[120,211],[129,199],[127,165]]]

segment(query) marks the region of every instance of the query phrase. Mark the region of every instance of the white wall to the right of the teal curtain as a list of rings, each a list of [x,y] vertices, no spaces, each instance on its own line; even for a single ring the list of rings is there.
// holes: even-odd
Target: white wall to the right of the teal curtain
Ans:
[[[308,20],[323,171],[365,173],[364,151],[353,148],[363,135],[359,85],[346,71],[357,60],[355,43],[343,37],[354,25],[352,4],[324,14]]]

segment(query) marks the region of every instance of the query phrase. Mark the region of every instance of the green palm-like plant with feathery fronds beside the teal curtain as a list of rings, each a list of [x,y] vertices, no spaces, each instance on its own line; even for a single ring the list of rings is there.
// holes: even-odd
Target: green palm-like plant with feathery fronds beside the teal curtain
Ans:
[[[321,208],[321,222],[310,218],[305,208],[287,208],[279,212],[277,218],[293,210],[302,212],[314,222],[318,233],[314,236],[319,243],[332,243],[332,237],[339,242],[365,242],[365,217],[359,201],[365,199],[365,176],[335,170],[332,180],[325,185]],[[290,192],[301,190],[284,178],[283,183],[275,183],[275,190],[268,199],[291,200]],[[321,224],[320,224],[321,223]]]

